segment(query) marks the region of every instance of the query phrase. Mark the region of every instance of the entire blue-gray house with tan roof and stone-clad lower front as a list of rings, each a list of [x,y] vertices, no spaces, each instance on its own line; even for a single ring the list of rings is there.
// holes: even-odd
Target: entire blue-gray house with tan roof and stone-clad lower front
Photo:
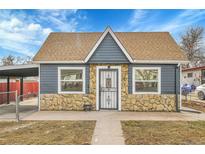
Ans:
[[[51,33],[40,64],[40,109],[176,111],[180,63],[168,32]]]

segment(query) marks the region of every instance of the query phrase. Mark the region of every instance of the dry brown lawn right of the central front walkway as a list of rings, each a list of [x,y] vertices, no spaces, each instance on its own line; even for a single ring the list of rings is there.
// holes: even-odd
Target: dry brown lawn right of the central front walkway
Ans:
[[[122,121],[126,144],[205,144],[205,121]]]

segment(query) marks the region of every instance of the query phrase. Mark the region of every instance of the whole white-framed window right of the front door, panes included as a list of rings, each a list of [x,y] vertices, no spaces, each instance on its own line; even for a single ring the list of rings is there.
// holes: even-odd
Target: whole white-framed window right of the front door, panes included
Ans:
[[[133,93],[160,93],[159,67],[135,67],[133,68]]]

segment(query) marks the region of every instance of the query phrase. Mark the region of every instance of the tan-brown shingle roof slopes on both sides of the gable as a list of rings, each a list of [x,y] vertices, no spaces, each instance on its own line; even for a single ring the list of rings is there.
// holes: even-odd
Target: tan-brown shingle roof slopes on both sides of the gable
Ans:
[[[168,32],[115,32],[133,60],[184,60]],[[34,61],[83,61],[102,33],[51,33]]]

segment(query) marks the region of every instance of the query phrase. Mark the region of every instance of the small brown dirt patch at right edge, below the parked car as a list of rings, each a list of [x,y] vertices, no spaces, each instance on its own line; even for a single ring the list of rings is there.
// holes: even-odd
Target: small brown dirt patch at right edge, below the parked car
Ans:
[[[205,112],[205,102],[202,103],[202,102],[197,102],[197,101],[185,101],[185,100],[183,100],[182,106]]]

